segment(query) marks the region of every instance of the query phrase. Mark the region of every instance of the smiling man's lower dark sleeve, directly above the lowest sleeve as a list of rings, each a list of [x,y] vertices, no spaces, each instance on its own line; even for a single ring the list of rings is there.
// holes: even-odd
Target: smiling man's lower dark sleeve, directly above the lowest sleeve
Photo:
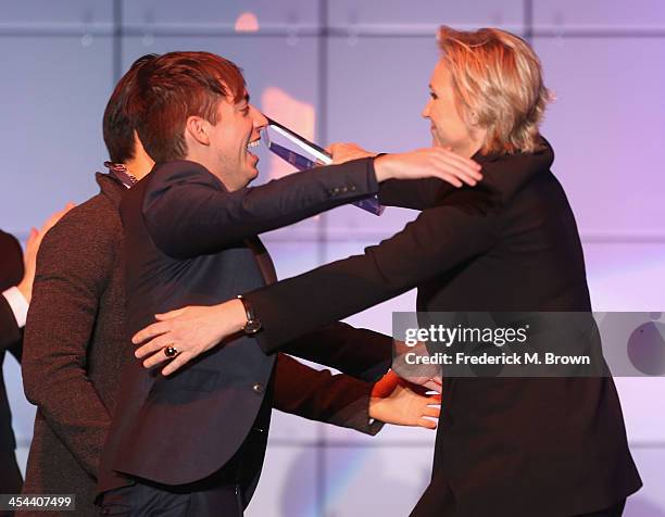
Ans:
[[[376,382],[392,361],[392,338],[368,329],[334,323],[288,342],[287,354]]]

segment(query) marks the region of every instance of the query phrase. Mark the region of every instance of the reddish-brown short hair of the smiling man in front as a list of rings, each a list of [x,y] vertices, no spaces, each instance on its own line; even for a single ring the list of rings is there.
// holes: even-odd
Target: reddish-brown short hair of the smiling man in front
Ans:
[[[240,68],[210,52],[170,52],[141,67],[130,110],[137,131],[155,162],[187,155],[185,125],[189,116],[217,123],[219,101],[244,97]]]

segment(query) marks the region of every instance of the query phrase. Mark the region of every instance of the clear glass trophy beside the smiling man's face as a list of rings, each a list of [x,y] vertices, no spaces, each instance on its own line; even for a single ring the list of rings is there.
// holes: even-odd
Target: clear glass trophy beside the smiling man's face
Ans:
[[[272,118],[267,118],[267,121],[268,125],[262,131],[261,139],[273,153],[293,165],[298,171],[306,171],[317,165],[329,165],[332,163],[332,156],[325,149]],[[293,147],[298,151],[292,150],[291,148]],[[386,209],[379,203],[376,196],[354,201],[351,204],[374,215],[381,215]]]

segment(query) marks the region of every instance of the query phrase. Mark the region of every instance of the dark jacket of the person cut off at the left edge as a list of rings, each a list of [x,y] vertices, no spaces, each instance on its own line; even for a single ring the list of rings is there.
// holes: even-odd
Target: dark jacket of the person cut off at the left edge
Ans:
[[[13,236],[0,231],[0,292],[16,286],[22,278],[23,251],[21,244]],[[7,299],[0,295],[0,450],[2,451],[13,451],[16,447],[16,440],[12,431],[12,414],[2,377],[2,364],[7,351],[21,362],[21,333],[12,308]]]

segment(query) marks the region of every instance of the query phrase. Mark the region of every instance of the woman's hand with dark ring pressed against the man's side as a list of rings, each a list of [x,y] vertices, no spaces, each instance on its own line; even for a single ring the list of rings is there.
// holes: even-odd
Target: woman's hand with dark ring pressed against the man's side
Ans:
[[[229,300],[212,306],[190,305],[156,314],[155,319],[158,323],[135,333],[131,342],[140,344],[147,341],[134,353],[137,358],[145,358],[146,368],[171,361],[162,369],[163,375],[173,374],[224,338],[242,330],[247,324],[244,307],[239,300]],[[175,357],[166,355],[165,350],[168,346],[177,350]]]

